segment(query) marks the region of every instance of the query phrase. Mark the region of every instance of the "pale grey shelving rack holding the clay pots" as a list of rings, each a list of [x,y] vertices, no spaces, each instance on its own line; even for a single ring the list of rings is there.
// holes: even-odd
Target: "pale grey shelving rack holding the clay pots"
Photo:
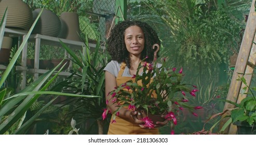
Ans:
[[[16,30],[12,28],[6,28],[5,30],[5,36],[8,37],[18,37],[19,38],[19,44],[22,43],[22,40],[26,37],[26,34],[28,31],[23,30]],[[32,42],[35,44],[35,54],[34,54],[34,68],[28,69],[26,65],[27,60],[27,54],[28,54],[28,42],[25,44],[23,50],[22,50],[22,58],[21,58],[21,66],[17,66],[16,70],[20,71],[22,80],[21,80],[21,90],[25,88],[26,86],[26,74],[31,74],[34,77],[34,80],[38,79],[39,74],[44,74],[48,70],[45,69],[39,69],[39,54],[40,54],[40,48],[43,45],[48,46],[56,46],[56,47],[62,47],[60,41],[62,41],[65,45],[67,45],[69,48],[73,50],[82,50],[82,48],[85,46],[84,42],[74,41],[74,40],[68,40],[63,38],[57,38],[57,37],[51,37],[51,36],[45,36],[41,34],[32,34],[29,37],[29,42]],[[89,48],[94,49],[96,47],[96,44],[89,43]],[[65,51],[66,55],[66,51]],[[72,66],[72,63],[70,63],[69,68]],[[4,71],[6,69],[6,66],[0,65],[0,70]],[[60,72],[60,76],[69,76],[71,75],[68,71]]]

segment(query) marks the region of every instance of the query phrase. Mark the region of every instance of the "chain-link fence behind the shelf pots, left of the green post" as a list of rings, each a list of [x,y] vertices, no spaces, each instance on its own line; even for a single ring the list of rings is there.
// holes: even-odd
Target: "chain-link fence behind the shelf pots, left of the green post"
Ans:
[[[23,0],[32,10],[45,8],[60,16],[62,12],[77,12],[81,37],[90,40],[105,40],[106,22],[113,18],[115,0]]]

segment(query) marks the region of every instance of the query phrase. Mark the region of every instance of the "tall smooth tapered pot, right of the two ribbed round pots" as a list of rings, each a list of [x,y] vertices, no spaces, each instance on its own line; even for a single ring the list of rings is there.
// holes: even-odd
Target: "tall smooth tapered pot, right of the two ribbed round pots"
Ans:
[[[61,33],[63,36],[59,36],[65,39],[81,41],[80,27],[79,27],[79,17],[76,12],[62,12],[60,15],[60,20],[62,21]],[[66,31],[66,35],[64,34]]]

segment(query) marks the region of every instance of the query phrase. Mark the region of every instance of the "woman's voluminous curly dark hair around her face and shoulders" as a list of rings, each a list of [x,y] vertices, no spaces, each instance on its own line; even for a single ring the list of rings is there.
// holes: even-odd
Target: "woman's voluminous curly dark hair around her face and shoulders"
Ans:
[[[111,55],[113,61],[117,61],[118,63],[125,62],[128,68],[130,68],[130,59],[129,52],[127,51],[125,45],[124,33],[126,28],[134,25],[141,27],[144,33],[145,44],[141,53],[141,60],[146,56],[149,56],[147,61],[153,62],[156,48],[153,49],[152,47],[154,44],[158,44],[160,46],[160,39],[157,36],[155,30],[153,30],[149,24],[141,21],[129,20],[125,20],[116,24],[113,27],[113,30],[111,30],[109,38],[106,40],[106,50]]]

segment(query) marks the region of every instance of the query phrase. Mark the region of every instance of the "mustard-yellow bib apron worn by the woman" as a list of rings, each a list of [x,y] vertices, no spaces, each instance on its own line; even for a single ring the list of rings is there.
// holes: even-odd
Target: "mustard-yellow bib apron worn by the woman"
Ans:
[[[123,72],[125,70],[126,64],[122,63],[120,66],[120,71],[118,72],[118,76],[116,78],[117,86],[122,83],[127,82],[128,80],[132,80],[135,82],[135,78],[131,77],[123,77]],[[139,84],[140,85],[140,84]],[[113,120],[113,115],[111,118],[111,122]],[[117,117],[115,118],[116,123],[110,123],[108,135],[129,135],[129,134],[141,134],[141,135],[155,135],[159,134],[158,128],[141,128],[138,124],[133,124],[123,118]]]

